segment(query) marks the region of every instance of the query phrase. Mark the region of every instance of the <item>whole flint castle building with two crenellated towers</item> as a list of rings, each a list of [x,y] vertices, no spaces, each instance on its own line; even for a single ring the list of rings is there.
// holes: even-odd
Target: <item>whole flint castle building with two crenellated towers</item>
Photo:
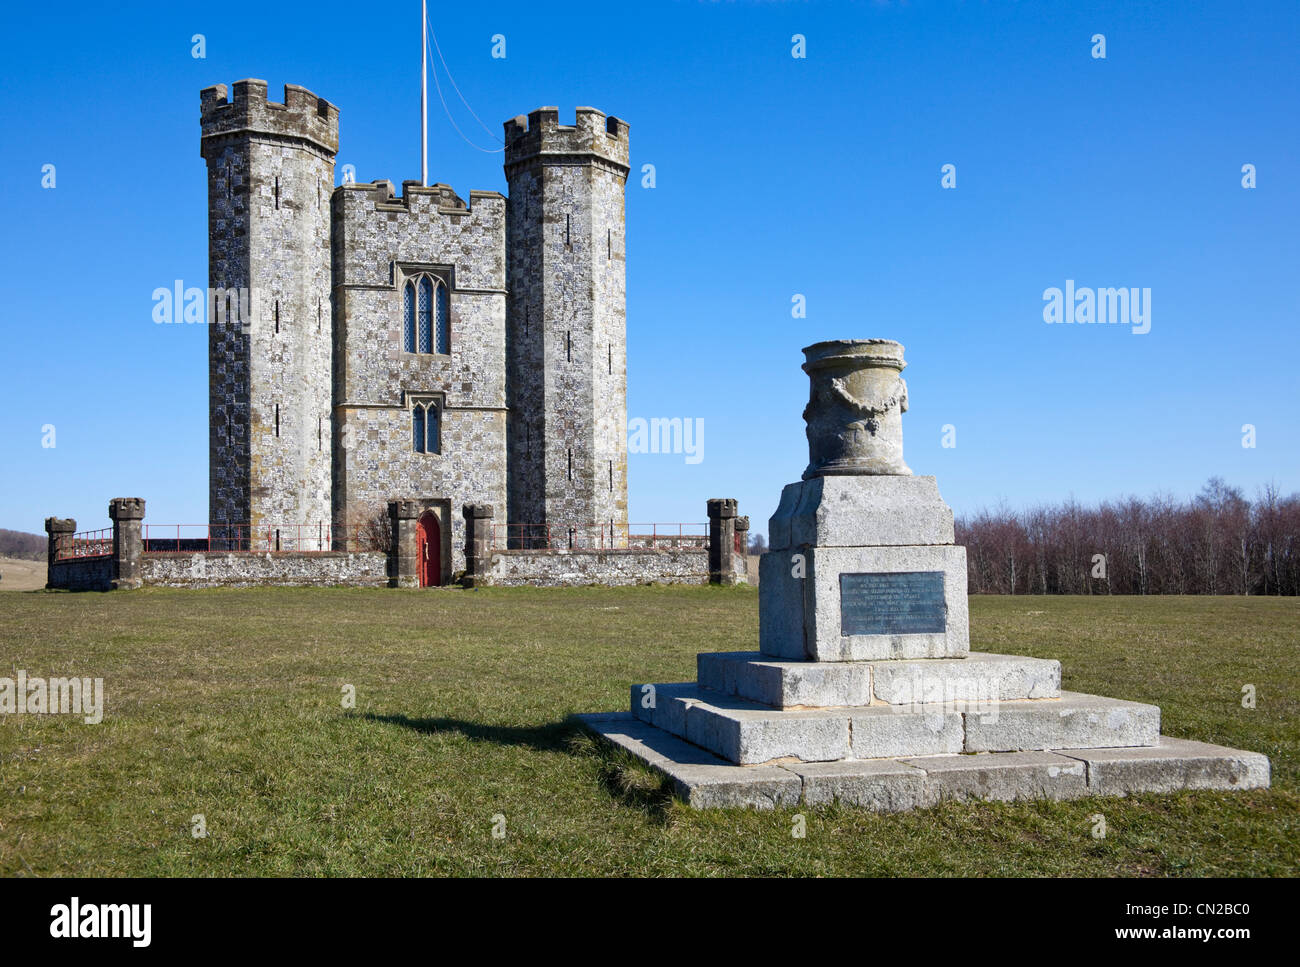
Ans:
[[[506,122],[511,198],[468,204],[446,185],[335,187],[338,108],[294,84],[282,104],[264,81],[208,87],[200,122],[211,522],[342,550],[417,500],[446,526],[445,582],[465,569],[467,504],[500,526],[625,533],[625,122]],[[445,287],[448,339],[412,351],[419,278]],[[413,442],[416,408],[436,446]]]

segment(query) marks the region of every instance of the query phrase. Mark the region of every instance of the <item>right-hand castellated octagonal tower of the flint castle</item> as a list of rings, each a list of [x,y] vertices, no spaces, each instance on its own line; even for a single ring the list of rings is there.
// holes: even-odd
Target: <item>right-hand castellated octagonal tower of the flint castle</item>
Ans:
[[[578,108],[506,122],[508,519],[628,522],[624,187],[628,125]]]

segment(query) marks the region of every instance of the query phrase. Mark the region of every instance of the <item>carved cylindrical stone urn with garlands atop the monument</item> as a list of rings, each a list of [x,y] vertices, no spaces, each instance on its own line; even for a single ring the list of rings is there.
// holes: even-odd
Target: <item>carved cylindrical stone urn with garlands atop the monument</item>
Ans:
[[[893,339],[831,339],[807,357],[809,468],[803,480],[833,476],[910,476],[902,461],[907,383],[902,346]]]

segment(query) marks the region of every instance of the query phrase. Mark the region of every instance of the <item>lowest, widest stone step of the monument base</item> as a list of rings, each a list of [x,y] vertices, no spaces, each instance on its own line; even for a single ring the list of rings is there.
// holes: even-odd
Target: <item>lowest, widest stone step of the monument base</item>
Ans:
[[[694,808],[796,807],[838,801],[879,812],[946,799],[1074,799],[1182,789],[1266,789],[1260,753],[1158,736],[1147,747],[1060,749],[736,766],[629,712],[580,715],[601,738],[667,776]]]

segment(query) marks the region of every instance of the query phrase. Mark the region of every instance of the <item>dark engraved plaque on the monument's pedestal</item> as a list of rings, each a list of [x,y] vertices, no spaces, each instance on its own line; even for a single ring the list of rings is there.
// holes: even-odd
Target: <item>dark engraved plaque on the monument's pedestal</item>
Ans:
[[[840,634],[942,634],[942,571],[840,574]]]

